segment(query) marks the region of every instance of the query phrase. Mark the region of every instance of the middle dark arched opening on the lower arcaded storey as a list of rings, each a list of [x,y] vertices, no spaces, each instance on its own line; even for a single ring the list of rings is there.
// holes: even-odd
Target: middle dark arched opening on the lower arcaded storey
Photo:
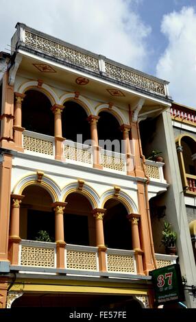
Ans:
[[[90,201],[80,193],[70,193],[64,214],[64,240],[67,244],[96,246],[95,219]]]

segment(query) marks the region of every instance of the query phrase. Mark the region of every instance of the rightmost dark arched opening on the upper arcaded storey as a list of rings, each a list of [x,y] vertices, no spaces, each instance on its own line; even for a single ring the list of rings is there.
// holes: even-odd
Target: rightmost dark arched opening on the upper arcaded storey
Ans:
[[[100,112],[99,117],[100,119],[97,123],[99,146],[108,151],[121,153],[123,134],[119,122],[111,113],[106,111]],[[113,141],[112,145],[110,143],[104,145],[103,141],[105,140]]]

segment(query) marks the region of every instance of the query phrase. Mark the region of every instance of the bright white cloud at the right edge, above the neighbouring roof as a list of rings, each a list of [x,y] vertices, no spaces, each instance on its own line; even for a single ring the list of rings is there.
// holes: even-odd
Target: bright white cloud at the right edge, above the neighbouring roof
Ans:
[[[196,108],[196,12],[184,7],[163,17],[161,31],[168,38],[167,49],[158,61],[158,77],[171,82],[174,101]]]

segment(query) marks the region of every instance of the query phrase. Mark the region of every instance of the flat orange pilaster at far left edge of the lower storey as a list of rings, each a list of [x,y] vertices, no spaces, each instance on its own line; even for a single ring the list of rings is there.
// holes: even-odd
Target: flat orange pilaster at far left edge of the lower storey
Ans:
[[[8,261],[12,156],[3,155],[0,162],[0,260]]]

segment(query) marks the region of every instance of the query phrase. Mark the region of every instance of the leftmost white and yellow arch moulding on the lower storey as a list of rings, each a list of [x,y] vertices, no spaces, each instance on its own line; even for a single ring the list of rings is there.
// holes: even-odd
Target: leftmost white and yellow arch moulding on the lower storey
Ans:
[[[45,188],[45,190],[47,190],[49,195],[51,195],[53,202],[60,200],[60,196],[61,196],[60,188],[52,179],[50,179],[46,175],[42,177],[41,182],[38,182],[37,174],[30,174],[23,177],[23,179],[21,179],[14,187],[13,194],[22,195],[23,190],[27,186],[31,186],[31,185],[42,186],[42,188]]]

